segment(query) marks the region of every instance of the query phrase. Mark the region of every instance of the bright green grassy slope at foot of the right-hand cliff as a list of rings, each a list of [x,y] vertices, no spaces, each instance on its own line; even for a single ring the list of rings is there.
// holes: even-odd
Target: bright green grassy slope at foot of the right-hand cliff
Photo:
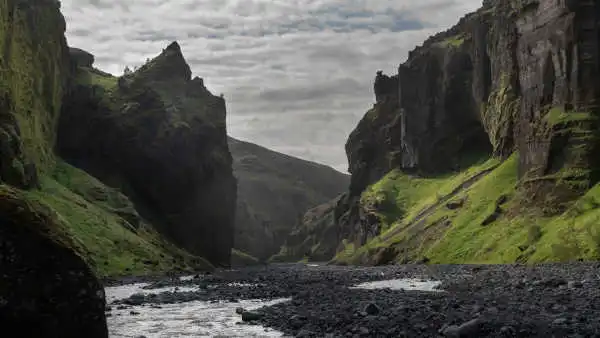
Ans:
[[[495,164],[497,160],[490,160],[464,173],[434,179],[390,173],[365,194],[393,198],[397,203],[393,210],[399,212],[397,218],[384,215],[385,220],[392,220],[387,231],[356,250],[349,243],[336,261],[357,263],[373,255],[375,249],[390,246],[399,250],[400,262],[424,257],[439,264],[533,263],[600,257],[600,185],[556,217],[543,216],[535,208],[521,208],[517,154],[436,205],[440,194]],[[459,207],[449,208],[448,201]]]

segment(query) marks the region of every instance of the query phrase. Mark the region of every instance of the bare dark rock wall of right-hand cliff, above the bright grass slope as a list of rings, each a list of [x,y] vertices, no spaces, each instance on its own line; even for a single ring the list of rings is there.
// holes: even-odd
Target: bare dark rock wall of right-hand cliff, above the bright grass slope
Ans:
[[[519,152],[528,203],[564,211],[598,181],[599,22],[597,1],[484,1],[378,73],[346,144],[338,242],[379,234],[360,196],[390,169],[433,175],[485,154]]]

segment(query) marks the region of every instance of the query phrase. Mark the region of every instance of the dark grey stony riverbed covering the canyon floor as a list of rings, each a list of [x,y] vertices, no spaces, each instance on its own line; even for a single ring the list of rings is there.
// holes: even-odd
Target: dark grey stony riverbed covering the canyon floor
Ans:
[[[361,285],[376,281],[383,285]],[[136,320],[130,308],[201,303],[227,304],[221,309],[234,319],[213,319],[237,327],[229,336],[600,337],[597,263],[288,264],[145,282],[145,289],[157,290],[109,299],[111,311],[134,313],[123,313],[120,322]],[[109,327],[115,322],[111,317]],[[160,326],[155,333],[161,336]]]

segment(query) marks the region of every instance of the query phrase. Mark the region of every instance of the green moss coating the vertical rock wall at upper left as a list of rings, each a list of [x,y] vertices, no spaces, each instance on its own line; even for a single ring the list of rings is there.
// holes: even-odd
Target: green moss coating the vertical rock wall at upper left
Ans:
[[[0,0],[0,98],[19,124],[23,152],[40,172],[52,167],[66,64],[64,20],[52,3]]]

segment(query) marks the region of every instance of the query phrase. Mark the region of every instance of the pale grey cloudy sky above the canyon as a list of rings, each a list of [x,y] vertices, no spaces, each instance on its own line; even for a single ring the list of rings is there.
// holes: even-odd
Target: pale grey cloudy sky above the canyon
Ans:
[[[230,135],[345,171],[378,69],[481,0],[62,0],[71,46],[120,75],[179,41]]]

